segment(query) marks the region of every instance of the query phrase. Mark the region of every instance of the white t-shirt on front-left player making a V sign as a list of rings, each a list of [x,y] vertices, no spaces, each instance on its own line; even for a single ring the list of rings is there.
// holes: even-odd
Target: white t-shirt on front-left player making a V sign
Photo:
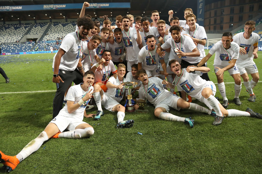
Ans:
[[[83,97],[84,95],[91,89],[91,92],[93,92],[94,88],[90,85],[89,86],[89,90],[87,92],[85,92],[82,88],[81,88],[81,84],[79,85],[74,85],[71,86],[67,92],[67,95],[65,97],[65,99],[68,101],[74,101],[74,104],[78,103]],[[89,99],[90,100],[90,99]],[[83,120],[84,118],[84,111],[85,111],[85,107],[86,105],[89,103],[89,100],[86,101],[86,103],[84,103],[83,105],[81,105],[77,110],[75,110],[72,113],[69,113],[67,110],[67,103],[65,104],[65,106],[60,110],[60,112],[58,113],[58,115],[61,116],[65,116],[65,117],[76,117],[79,118],[80,120]]]

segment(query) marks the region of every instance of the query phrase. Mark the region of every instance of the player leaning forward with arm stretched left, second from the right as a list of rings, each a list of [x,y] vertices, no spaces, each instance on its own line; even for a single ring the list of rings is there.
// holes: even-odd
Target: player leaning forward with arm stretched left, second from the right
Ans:
[[[215,43],[208,55],[204,57],[196,66],[203,66],[213,54],[216,54],[214,59],[214,68],[217,77],[217,86],[221,96],[223,97],[222,106],[227,108],[229,104],[224,84],[224,71],[228,71],[228,73],[233,77],[235,81],[235,97],[233,101],[236,105],[241,105],[242,103],[238,98],[241,91],[241,79],[236,65],[236,60],[239,55],[239,46],[237,43],[233,42],[231,32],[223,33],[221,41]]]

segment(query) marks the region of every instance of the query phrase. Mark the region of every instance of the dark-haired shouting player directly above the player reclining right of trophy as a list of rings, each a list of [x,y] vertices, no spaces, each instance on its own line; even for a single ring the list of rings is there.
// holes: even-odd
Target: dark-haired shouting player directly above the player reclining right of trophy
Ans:
[[[156,53],[156,39],[153,35],[146,36],[146,46],[144,46],[138,55],[138,70],[145,69],[146,73],[150,77],[159,77],[159,55]],[[166,64],[163,57],[160,57],[160,62],[167,76]]]

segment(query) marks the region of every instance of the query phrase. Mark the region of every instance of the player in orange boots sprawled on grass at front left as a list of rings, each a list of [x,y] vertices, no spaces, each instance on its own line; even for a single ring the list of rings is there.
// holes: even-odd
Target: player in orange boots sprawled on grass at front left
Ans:
[[[92,97],[94,88],[94,73],[86,71],[83,83],[69,88],[67,103],[58,115],[46,126],[36,139],[30,141],[16,156],[8,156],[0,151],[0,163],[8,172],[26,157],[37,151],[43,142],[50,138],[83,138],[94,134],[94,129],[88,123],[83,122],[85,107]],[[90,114],[94,115],[94,114]],[[69,130],[63,132],[65,129]]]

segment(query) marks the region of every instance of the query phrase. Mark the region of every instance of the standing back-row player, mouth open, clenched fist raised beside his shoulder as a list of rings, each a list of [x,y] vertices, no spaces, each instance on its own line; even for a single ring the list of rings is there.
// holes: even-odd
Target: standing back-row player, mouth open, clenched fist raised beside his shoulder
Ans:
[[[142,38],[139,33],[139,26],[136,24],[135,28],[130,26],[130,18],[127,16],[122,17],[122,25],[124,30],[123,41],[124,47],[127,51],[126,60],[127,60],[127,71],[131,71],[131,65],[137,63],[137,53],[140,51],[138,45],[142,43]]]

